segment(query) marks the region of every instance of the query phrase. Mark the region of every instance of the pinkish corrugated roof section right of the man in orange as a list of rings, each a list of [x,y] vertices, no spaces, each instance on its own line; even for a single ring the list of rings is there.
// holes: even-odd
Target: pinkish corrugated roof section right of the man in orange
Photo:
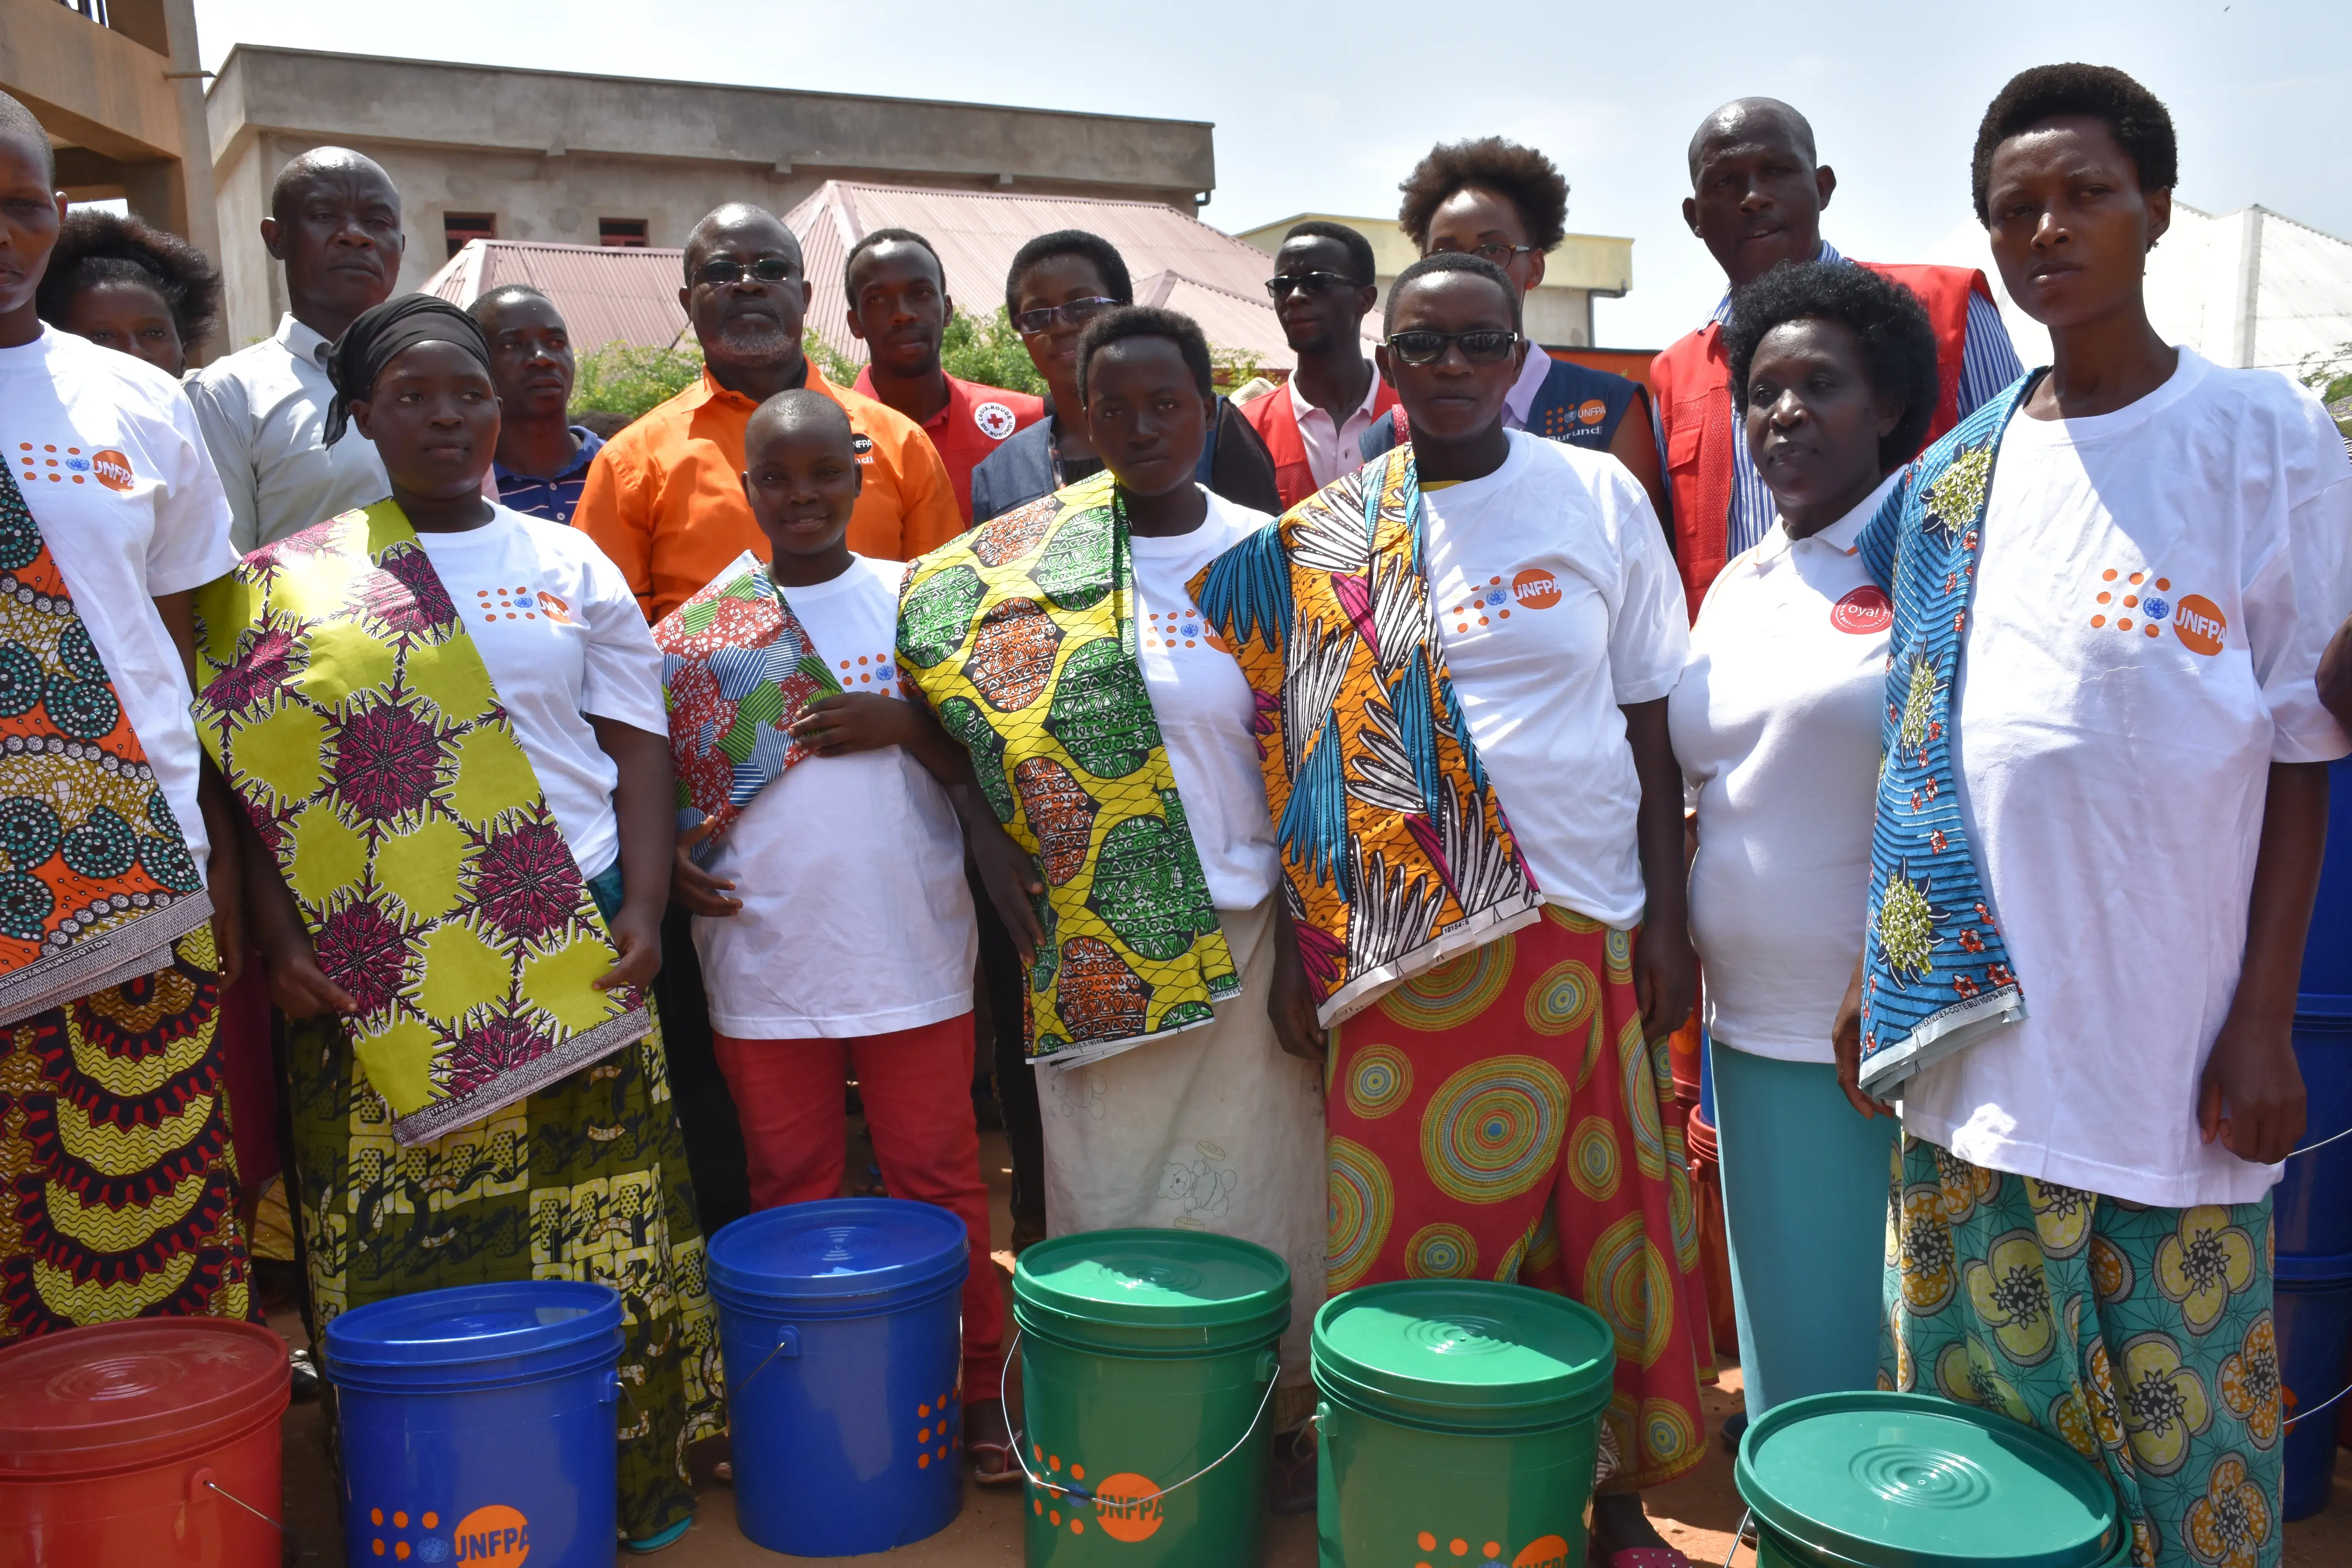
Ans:
[[[866,346],[849,336],[842,259],[875,228],[913,228],[929,240],[948,275],[948,294],[971,315],[988,315],[1002,303],[1004,270],[1028,240],[1056,228],[1084,228],[1120,247],[1138,301],[1183,310],[1211,343],[1247,353],[1268,369],[1287,374],[1296,364],[1265,299],[1265,252],[1157,202],[833,179],[783,221],[800,235],[809,263],[809,324],[851,360],[863,360]],[[1162,289],[1157,301],[1155,287]]]

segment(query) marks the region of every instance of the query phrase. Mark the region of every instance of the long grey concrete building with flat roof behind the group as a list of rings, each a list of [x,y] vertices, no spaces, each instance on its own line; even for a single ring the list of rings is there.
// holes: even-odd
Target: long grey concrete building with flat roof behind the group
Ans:
[[[59,9],[0,2],[9,14]],[[125,2],[155,0],[115,9]],[[830,179],[1124,197],[1185,214],[1216,186],[1209,125],[1190,120],[252,45],[221,63],[205,108],[233,343],[268,334],[285,310],[280,273],[249,235],[278,169],[313,146],[367,153],[400,186],[402,289],[423,287],[468,240],[675,247],[720,202],[781,214]]]

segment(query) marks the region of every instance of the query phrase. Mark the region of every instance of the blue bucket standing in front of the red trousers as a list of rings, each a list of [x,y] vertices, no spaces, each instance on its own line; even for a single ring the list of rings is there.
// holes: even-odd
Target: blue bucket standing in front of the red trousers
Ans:
[[[743,1535],[854,1556],[948,1528],[967,1251],[962,1220],[906,1199],[786,1204],[710,1239]]]

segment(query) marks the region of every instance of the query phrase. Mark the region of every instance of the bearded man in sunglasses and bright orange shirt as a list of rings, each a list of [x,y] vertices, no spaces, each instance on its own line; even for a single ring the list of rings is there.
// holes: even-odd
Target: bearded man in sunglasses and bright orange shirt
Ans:
[[[729,202],[696,223],[677,301],[703,346],[703,378],[604,444],[572,517],[628,576],[647,621],[677,609],[739,552],[767,557],[743,501],[743,425],[788,388],[849,411],[866,480],[851,550],[903,562],[964,531],[922,428],[833,386],[802,353],[809,280],[800,240],[776,214]]]

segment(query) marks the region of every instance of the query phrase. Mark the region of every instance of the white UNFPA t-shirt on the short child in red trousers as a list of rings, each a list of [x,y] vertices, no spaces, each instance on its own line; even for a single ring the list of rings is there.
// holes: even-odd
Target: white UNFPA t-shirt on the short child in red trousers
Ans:
[[[898,693],[898,562],[854,555],[786,588],[844,691]],[[710,1027],[736,1039],[896,1034],[971,1011],[978,929],[964,830],[898,745],[804,757],[727,827],[710,860],[743,907],[694,917]]]

